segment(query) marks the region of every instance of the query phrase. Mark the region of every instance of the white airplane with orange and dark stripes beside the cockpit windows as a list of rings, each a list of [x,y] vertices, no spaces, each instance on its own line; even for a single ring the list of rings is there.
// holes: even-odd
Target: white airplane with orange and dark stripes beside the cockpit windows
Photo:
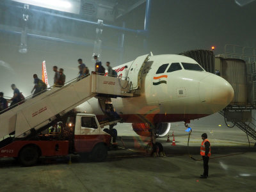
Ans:
[[[234,97],[234,90],[225,79],[206,72],[186,56],[151,52],[113,69],[119,78],[129,80],[135,97],[92,98],[75,111],[93,113],[102,120],[109,118],[111,109],[122,122],[132,123],[138,135],[151,137],[152,141],[165,136],[172,122],[188,124],[212,115],[228,106]]]

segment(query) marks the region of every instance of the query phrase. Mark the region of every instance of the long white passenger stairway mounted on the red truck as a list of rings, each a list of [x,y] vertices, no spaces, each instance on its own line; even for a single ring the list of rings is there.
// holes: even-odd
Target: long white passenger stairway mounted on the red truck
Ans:
[[[0,115],[0,138],[13,134],[24,138],[31,132],[42,129],[58,116],[64,115],[92,97],[132,97],[129,81],[116,77],[93,74],[80,81],[51,90],[27,99],[15,108]],[[45,128],[46,129],[46,128]]]

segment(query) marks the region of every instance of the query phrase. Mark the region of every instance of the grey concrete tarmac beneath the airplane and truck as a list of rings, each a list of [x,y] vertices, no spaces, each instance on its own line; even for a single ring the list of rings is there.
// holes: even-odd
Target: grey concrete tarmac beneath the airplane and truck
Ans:
[[[209,120],[205,120],[209,122]],[[80,156],[42,158],[36,166],[22,167],[15,159],[0,159],[0,191],[256,191],[256,149],[252,138],[220,122],[191,122],[191,138],[184,124],[172,124],[167,135],[157,138],[166,157],[145,154],[147,138],[134,134],[131,124],[120,124],[118,149],[108,159],[93,163]],[[221,126],[219,126],[221,125]],[[208,179],[200,179],[202,132],[211,141]],[[191,159],[193,157],[195,160]]]

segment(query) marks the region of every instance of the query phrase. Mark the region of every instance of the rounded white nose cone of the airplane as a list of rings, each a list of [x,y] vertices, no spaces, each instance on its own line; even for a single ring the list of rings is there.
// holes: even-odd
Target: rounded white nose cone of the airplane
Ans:
[[[200,102],[205,102],[212,112],[220,111],[234,98],[234,90],[225,79],[211,74],[200,81]]]

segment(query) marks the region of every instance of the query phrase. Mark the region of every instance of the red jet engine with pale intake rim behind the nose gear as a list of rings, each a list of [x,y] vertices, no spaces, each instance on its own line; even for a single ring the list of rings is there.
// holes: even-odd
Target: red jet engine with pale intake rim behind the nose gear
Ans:
[[[155,127],[155,132],[157,136],[163,137],[165,136],[171,128],[171,123],[158,123]],[[139,136],[150,136],[150,127],[149,124],[132,124],[132,129],[135,131]]]

